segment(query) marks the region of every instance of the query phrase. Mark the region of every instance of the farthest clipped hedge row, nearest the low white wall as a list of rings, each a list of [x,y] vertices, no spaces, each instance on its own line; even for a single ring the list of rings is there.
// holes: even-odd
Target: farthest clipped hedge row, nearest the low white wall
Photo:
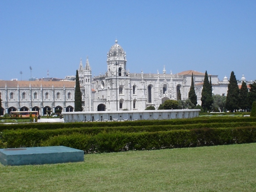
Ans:
[[[199,117],[191,119],[148,120],[148,121],[123,121],[123,122],[78,122],[78,123],[23,123],[0,124],[0,131],[6,129],[61,129],[80,127],[126,127],[126,126],[165,126],[198,123],[231,123],[231,122],[256,122],[256,117]]]

